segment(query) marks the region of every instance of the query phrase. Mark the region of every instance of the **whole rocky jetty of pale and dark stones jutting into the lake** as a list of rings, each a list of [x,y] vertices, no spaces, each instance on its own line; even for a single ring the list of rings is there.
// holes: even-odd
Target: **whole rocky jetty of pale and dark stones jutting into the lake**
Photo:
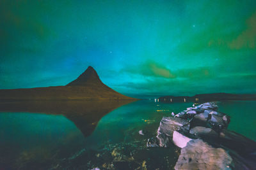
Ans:
[[[181,148],[175,169],[256,169],[256,142],[228,131],[229,123],[216,103],[193,104],[163,117],[147,146]]]

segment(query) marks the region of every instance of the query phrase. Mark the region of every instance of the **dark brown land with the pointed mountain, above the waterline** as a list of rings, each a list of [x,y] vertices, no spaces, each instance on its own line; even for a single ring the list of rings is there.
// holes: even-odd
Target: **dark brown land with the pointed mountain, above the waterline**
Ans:
[[[0,100],[134,100],[111,89],[89,66],[76,80],[65,86],[0,90]]]

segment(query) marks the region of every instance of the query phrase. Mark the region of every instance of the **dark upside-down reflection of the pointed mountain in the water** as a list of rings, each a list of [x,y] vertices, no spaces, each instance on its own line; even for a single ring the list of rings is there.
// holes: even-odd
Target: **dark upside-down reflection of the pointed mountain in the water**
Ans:
[[[63,115],[74,122],[84,137],[94,131],[100,118],[116,108],[131,103],[125,100],[106,101],[13,101],[0,103],[1,112],[29,112]]]

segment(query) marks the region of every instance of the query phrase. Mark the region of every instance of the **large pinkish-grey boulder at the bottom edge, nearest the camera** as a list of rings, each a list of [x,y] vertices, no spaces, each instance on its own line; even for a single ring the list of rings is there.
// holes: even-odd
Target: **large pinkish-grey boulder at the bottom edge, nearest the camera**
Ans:
[[[222,148],[213,148],[201,139],[181,149],[175,169],[231,169],[232,158]]]

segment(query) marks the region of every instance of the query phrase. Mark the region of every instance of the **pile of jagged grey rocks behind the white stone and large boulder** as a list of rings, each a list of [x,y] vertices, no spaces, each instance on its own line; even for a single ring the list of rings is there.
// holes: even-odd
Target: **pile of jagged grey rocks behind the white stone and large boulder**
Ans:
[[[218,111],[216,103],[200,104],[174,114],[174,117],[163,117],[156,138],[148,139],[147,146],[167,147],[172,142],[174,131],[189,138],[216,137],[227,129],[229,122],[230,118]]]

